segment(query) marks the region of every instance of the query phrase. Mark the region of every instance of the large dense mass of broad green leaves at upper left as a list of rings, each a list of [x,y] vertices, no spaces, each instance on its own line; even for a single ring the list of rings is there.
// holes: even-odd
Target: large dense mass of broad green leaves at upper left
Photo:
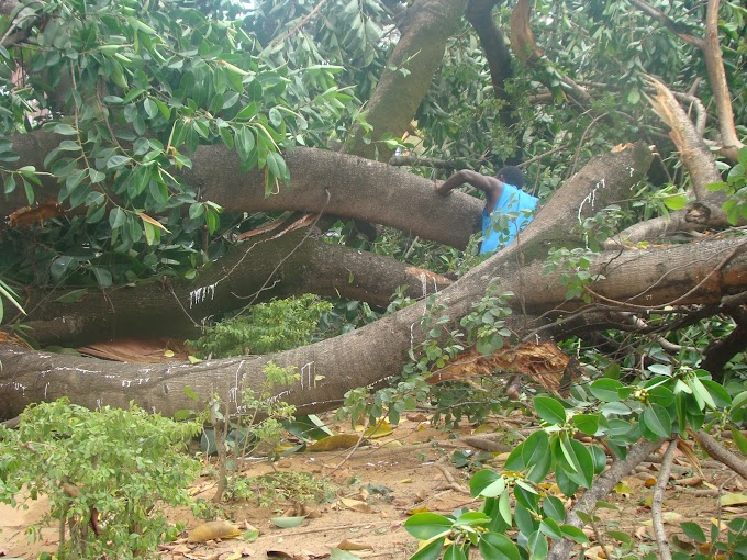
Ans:
[[[289,180],[281,152],[325,144],[355,107],[335,83],[342,67],[276,64],[222,12],[220,2],[70,0],[24,4],[9,22],[24,40],[0,51],[0,130],[41,126],[59,142],[48,173],[0,169],[3,190],[22,186],[32,204],[51,175],[58,202],[86,209],[35,240],[53,280],[82,269],[107,287],[175,266],[193,276],[205,235],[221,229],[221,209],[182,173],[197,148],[235,150],[243,169],[264,170],[269,195]],[[10,142],[0,153],[13,161]]]

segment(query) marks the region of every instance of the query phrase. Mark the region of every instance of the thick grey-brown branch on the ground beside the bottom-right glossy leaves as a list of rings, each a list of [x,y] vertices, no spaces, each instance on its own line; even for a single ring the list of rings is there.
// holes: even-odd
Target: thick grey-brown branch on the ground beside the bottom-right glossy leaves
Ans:
[[[661,440],[648,441],[640,440],[634,444],[628,450],[624,460],[614,461],[610,468],[603,472],[591,485],[591,488],[576,502],[568,512],[566,524],[583,528],[583,522],[578,516],[578,512],[590,513],[594,509],[597,502],[606,496],[620,480],[631,472],[636,464],[644,461],[648,453],[654,452],[661,446]],[[557,540],[553,542],[547,560],[566,560],[571,552],[573,542],[570,540]]]

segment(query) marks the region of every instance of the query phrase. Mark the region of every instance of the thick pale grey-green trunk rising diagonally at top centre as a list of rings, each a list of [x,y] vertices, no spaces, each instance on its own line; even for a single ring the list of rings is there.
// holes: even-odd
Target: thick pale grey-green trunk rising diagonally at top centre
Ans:
[[[444,49],[467,0],[417,0],[412,20],[397,43],[387,69],[368,102],[366,120],[374,126],[371,142],[358,127],[344,150],[368,159],[387,161],[391,148],[376,141],[383,134],[402,136],[431,89],[433,74],[444,58]],[[406,70],[400,71],[400,68]]]

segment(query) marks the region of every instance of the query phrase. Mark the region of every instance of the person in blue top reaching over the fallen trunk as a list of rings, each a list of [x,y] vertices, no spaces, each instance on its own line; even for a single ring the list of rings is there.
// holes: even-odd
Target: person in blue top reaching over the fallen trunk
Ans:
[[[501,169],[495,177],[461,169],[436,187],[442,197],[448,195],[460,184],[471,184],[486,193],[482,210],[482,245],[480,255],[493,253],[514,240],[524,229],[537,208],[538,199],[524,192],[524,173],[515,166]],[[502,216],[508,217],[508,229]]]

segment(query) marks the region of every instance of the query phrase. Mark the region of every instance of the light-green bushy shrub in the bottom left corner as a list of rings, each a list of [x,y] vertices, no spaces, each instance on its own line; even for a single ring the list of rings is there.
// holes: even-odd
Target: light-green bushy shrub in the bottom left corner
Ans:
[[[66,399],[32,405],[18,430],[0,427],[0,502],[18,507],[20,496],[45,494],[49,517],[59,522],[60,559],[155,556],[178,534],[160,506],[190,503],[186,486],[200,463],[185,455],[185,443],[200,429],[134,405],[97,412]]]

